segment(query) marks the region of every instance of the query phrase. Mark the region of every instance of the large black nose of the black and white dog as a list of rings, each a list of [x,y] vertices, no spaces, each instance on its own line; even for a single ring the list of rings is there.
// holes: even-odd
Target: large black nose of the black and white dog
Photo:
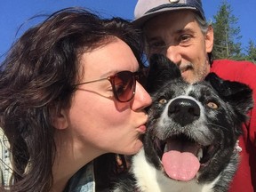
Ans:
[[[199,118],[200,108],[194,100],[179,98],[169,105],[168,116],[181,126],[185,126]]]

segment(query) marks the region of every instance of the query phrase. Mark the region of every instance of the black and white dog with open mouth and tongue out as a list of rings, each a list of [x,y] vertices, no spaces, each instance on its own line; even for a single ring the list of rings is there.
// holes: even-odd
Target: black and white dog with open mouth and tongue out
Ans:
[[[245,84],[209,74],[188,84],[162,55],[150,60],[144,148],[115,192],[227,191],[239,162],[241,126],[252,108]]]

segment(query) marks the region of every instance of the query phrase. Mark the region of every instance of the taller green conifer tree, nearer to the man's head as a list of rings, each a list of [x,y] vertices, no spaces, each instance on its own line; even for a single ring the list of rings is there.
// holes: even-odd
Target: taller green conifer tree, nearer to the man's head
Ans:
[[[232,14],[231,6],[223,1],[216,15],[213,16],[214,59],[242,60],[240,28],[236,26],[237,18]]]

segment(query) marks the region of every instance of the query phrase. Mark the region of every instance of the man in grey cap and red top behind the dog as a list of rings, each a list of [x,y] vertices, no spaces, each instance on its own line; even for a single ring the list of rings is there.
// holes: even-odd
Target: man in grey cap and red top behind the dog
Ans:
[[[175,62],[189,83],[200,81],[209,72],[248,84],[256,100],[256,65],[246,61],[212,60],[213,28],[205,20],[200,0],[138,0],[134,25],[142,28],[148,56],[163,53]],[[232,192],[256,191],[256,107],[249,113],[239,139],[240,153]]]

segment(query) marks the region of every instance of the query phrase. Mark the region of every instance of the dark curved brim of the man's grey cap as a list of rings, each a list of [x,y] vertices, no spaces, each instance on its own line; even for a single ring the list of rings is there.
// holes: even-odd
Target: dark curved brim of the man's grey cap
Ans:
[[[139,19],[132,20],[132,24],[135,27],[137,27],[137,28],[142,28],[143,25],[148,20],[152,19],[156,15],[162,14],[164,12],[173,12],[173,11],[178,11],[178,10],[192,10],[192,11],[196,11],[196,8],[195,7],[165,7],[163,9],[157,10],[155,12],[148,12],[148,13],[144,14],[142,17],[140,17]]]

